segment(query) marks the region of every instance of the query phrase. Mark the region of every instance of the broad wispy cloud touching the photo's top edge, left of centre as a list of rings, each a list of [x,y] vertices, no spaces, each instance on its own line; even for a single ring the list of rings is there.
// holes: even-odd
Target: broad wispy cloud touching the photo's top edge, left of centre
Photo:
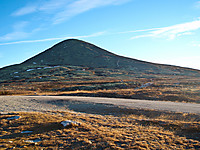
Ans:
[[[62,23],[71,17],[84,13],[94,8],[120,5],[131,0],[47,0],[37,1],[26,5],[14,13],[13,16],[22,16],[31,13],[45,13],[50,15],[54,24]]]

